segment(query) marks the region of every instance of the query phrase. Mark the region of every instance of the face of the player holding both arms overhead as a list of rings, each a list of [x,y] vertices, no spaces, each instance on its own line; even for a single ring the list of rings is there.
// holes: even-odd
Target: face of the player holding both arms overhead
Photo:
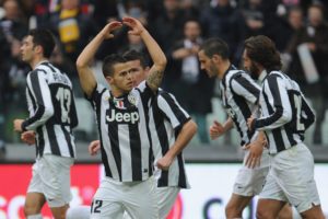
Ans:
[[[133,78],[130,69],[130,66],[127,64],[115,64],[114,74],[109,77],[109,84],[122,93],[131,91],[133,88]]]

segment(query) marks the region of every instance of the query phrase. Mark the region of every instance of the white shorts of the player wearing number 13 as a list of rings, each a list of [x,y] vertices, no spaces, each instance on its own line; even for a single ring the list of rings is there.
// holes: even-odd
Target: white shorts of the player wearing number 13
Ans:
[[[45,195],[50,208],[69,204],[71,196],[70,168],[74,159],[44,154],[32,166],[32,178],[27,193]]]

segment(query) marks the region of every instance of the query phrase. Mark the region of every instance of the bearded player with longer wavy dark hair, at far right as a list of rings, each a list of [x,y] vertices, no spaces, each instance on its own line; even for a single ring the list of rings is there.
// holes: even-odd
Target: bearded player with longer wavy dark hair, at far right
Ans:
[[[269,37],[246,39],[243,56],[253,74],[267,74],[259,99],[261,117],[247,119],[250,130],[266,132],[271,157],[257,218],[276,218],[285,203],[290,203],[302,218],[324,219],[314,180],[314,159],[303,143],[304,132],[315,115],[298,84],[281,72],[280,54]]]

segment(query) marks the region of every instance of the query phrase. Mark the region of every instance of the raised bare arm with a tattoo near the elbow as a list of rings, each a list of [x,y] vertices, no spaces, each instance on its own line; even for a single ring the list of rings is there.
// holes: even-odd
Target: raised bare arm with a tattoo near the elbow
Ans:
[[[122,21],[124,24],[128,25],[131,28],[131,31],[129,31],[129,34],[140,35],[148,48],[148,51],[154,65],[150,69],[150,73],[147,78],[147,84],[153,91],[156,91],[162,83],[164,70],[167,62],[165,54],[155,42],[155,39],[138,20],[133,18],[124,18]]]

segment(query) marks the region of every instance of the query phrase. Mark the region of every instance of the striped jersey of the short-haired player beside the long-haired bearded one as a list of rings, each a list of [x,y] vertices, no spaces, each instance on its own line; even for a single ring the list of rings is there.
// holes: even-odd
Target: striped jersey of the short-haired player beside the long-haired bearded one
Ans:
[[[249,131],[247,118],[257,110],[259,85],[248,73],[231,66],[220,81],[220,90],[222,105],[242,138],[241,146],[249,143],[254,131]]]

